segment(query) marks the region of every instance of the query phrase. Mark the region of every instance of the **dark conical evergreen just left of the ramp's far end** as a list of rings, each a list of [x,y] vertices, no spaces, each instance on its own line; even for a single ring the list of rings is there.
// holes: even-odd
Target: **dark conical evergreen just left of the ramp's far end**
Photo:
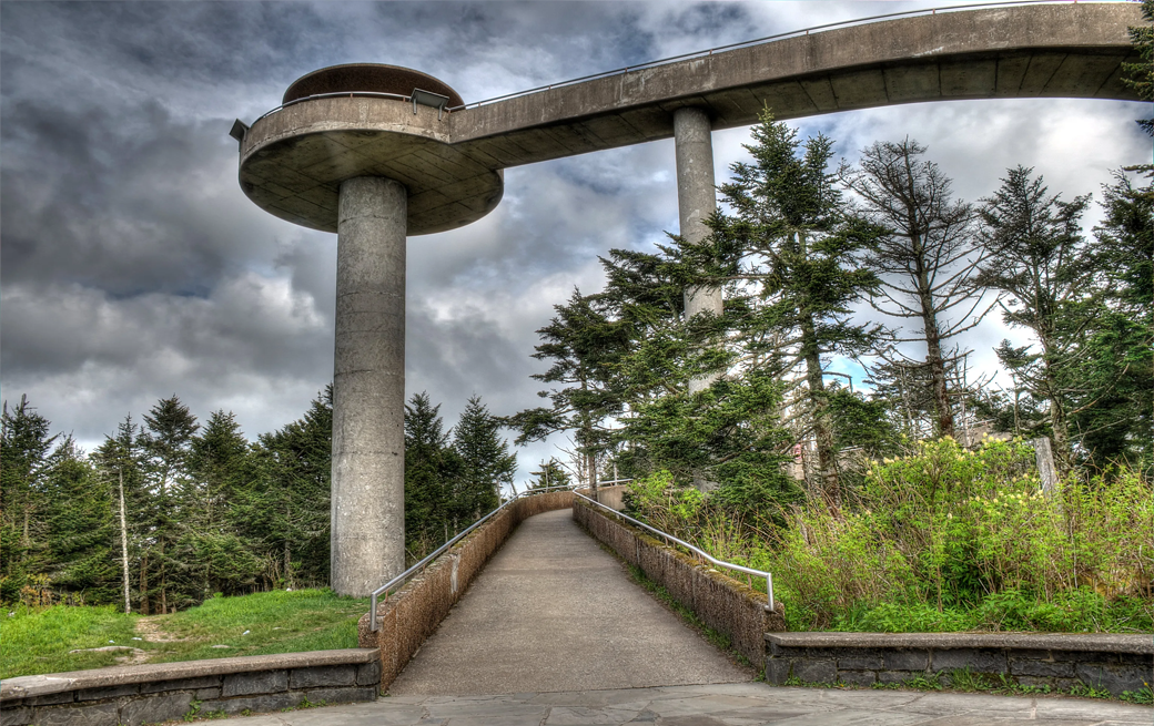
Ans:
[[[480,396],[472,396],[452,430],[452,447],[460,456],[460,476],[454,491],[454,511],[460,522],[478,520],[501,504],[501,485],[512,483],[517,455],[501,439],[501,421],[489,414]]]

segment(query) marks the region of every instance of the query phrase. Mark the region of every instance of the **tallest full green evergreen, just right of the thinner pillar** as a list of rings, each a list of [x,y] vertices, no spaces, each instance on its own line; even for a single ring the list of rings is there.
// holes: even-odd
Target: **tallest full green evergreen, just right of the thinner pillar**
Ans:
[[[874,347],[877,328],[848,318],[850,305],[878,288],[876,275],[855,263],[875,248],[882,230],[846,213],[829,171],[833,152],[827,137],[801,142],[796,130],[774,122],[769,111],[752,137],[744,145],[752,162],[734,164],[733,181],[720,187],[733,214],[711,220],[707,244],[736,255],[742,273],[735,278],[751,283],[740,288],[743,298],[730,303],[748,310],[736,326],[747,351],[780,366],[773,375],[803,366],[822,490],[837,506],[838,461],[824,368],[831,355],[853,356]]]

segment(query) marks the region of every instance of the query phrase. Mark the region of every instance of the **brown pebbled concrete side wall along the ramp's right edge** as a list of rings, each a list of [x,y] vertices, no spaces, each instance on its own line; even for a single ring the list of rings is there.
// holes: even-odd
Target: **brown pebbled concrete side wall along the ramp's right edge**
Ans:
[[[623,560],[664,587],[702,622],[727,635],[734,649],[755,665],[765,658],[765,634],[785,630],[781,605],[766,608],[767,598],[747,583],[666,546],[623,520],[577,499],[574,520]]]

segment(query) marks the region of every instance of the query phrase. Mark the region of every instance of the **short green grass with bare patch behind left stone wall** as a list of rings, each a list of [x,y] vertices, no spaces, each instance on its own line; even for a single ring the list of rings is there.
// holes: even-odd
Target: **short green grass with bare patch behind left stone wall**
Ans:
[[[85,651],[107,645],[144,651],[136,663],[355,648],[357,620],[367,611],[368,598],[339,597],[330,590],[218,597],[148,619],[112,606],[18,606],[0,618],[0,678],[99,668],[133,655]]]

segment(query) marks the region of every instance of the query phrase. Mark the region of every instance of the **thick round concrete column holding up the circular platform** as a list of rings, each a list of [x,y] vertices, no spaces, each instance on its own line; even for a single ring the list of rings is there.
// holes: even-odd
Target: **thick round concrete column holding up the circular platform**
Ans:
[[[405,569],[405,235],[390,179],[340,184],[332,381],[332,589],[364,597]]]

